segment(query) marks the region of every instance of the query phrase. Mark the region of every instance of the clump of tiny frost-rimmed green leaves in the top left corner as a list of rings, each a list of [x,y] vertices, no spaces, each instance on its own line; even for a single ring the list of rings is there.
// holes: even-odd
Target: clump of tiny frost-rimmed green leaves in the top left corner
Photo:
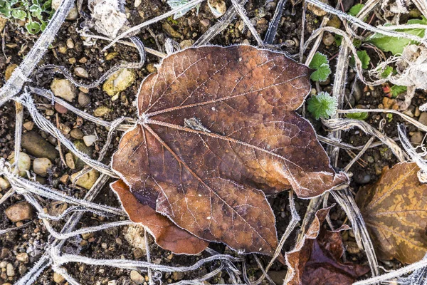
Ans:
[[[0,0],[0,15],[6,19],[25,21],[28,33],[43,31],[53,15],[52,0]]]

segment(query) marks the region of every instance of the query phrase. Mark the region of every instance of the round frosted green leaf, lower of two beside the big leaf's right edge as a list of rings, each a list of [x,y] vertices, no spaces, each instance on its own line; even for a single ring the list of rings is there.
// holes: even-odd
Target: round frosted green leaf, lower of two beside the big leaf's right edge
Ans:
[[[337,98],[332,97],[327,92],[321,92],[318,95],[308,99],[307,110],[316,120],[327,119],[337,112]]]

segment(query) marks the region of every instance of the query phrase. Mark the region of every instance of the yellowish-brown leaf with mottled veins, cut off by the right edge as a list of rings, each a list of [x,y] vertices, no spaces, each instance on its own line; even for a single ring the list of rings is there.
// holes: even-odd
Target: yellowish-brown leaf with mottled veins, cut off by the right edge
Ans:
[[[384,168],[374,185],[357,192],[356,202],[381,259],[411,264],[427,252],[427,185],[415,162]]]

